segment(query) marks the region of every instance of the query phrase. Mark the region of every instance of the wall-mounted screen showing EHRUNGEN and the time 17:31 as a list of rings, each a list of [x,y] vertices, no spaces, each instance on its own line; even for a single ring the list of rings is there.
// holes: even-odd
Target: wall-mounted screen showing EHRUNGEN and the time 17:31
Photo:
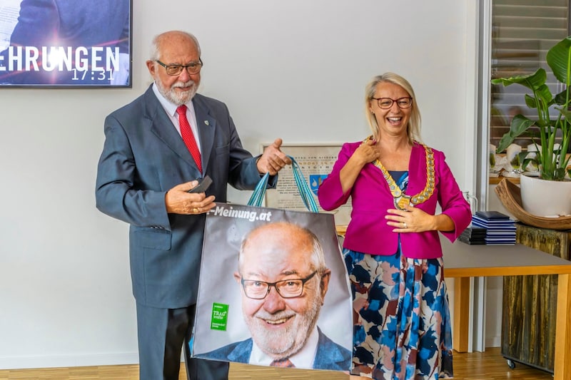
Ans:
[[[0,87],[131,87],[132,0],[0,0]]]

